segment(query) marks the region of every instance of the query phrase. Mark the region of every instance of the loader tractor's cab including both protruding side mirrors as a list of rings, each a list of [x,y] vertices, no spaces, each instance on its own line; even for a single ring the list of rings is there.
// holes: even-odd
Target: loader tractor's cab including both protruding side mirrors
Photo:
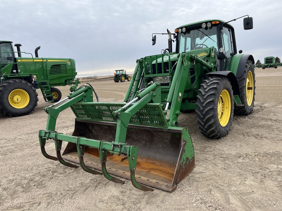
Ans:
[[[243,18],[242,16],[240,18]],[[237,18],[237,19],[240,19]],[[237,19],[231,20],[236,21]],[[196,53],[196,55],[203,59],[207,54],[209,48],[213,51],[211,54],[215,58],[215,66],[217,71],[227,70],[229,67],[227,65],[229,59],[237,54],[236,41],[235,41],[235,31],[232,25],[229,24],[231,21],[221,21],[221,20],[206,20],[194,22],[186,25],[179,26],[175,29],[175,33],[168,34],[168,48],[164,50],[164,53],[171,53],[172,42],[176,42],[175,53],[191,52],[191,54]],[[243,20],[244,29],[253,28],[253,18],[247,17]],[[160,34],[160,33],[154,33]],[[153,34],[153,35],[154,35]],[[173,38],[172,38],[173,35]],[[156,35],[152,37],[153,45],[156,43]],[[197,53],[199,50],[203,49],[206,53]],[[239,50],[239,54],[242,51]]]

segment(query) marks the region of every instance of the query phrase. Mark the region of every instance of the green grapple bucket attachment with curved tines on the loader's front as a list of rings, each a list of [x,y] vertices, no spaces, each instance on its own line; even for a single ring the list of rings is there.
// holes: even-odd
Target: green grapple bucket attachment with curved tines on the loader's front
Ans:
[[[155,89],[160,91],[158,84],[127,104],[93,103],[86,86],[68,102],[45,108],[47,129],[39,132],[42,153],[69,167],[79,163],[83,170],[103,174],[116,183],[124,181],[113,175],[130,179],[139,190],[153,190],[147,186],[175,190],[194,168],[194,148],[187,128],[168,126],[162,105],[148,103]],[[59,113],[68,107],[76,115],[72,135],[55,131]],[[55,141],[57,158],[45,150],[48,139]],[[68,145],[61,155],[63,141]]]

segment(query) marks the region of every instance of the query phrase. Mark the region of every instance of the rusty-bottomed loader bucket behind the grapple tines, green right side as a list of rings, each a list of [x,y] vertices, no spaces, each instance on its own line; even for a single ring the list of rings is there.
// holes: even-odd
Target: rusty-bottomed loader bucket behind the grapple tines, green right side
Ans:
[[[114,122],[76,119],[72,136],[115,142],[116,130],[117,123]],[[187,128],[129,125],[126,144],[138,147],[135,170],[135,179],[138,183],[173,191],[194,168],[194,148]],[[99,153],[98,148],[85,146],[83,159],[86,171],[102,170]],[[77,144],[69,142],[62,158],[80,163]],[[131,178],[126,155],[108,152],[106,161],[109,174]]]

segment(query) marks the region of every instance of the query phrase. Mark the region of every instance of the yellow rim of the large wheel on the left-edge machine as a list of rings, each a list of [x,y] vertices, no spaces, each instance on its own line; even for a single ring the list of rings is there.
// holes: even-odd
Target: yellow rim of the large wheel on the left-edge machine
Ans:
[[[9,103],[14,108],[24,108],[29,103],[29,95],[24,89],[14,89],[9,94]]]

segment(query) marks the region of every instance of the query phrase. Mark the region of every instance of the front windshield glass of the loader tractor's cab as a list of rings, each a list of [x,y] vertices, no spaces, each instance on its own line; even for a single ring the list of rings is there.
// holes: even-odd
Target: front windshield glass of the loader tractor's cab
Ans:
[[[217,48],[216,27],[199,28],[178,34],[179,52],[186,52],[206,47]]]

